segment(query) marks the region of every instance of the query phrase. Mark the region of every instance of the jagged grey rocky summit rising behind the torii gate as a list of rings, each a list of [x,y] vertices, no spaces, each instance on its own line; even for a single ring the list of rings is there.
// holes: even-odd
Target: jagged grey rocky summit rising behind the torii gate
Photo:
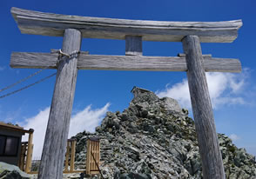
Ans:
[[[100,137],[104,178],[203,178],[194,122],[187,109],[168,97],[133,88],[122,113],[108,112],[96,132],[78,133],[76,166],[84,166],[86,140]],[[218,134],[227,179],[255,179],[255,156]],[[99,176],[95,176],[99,177]]]

